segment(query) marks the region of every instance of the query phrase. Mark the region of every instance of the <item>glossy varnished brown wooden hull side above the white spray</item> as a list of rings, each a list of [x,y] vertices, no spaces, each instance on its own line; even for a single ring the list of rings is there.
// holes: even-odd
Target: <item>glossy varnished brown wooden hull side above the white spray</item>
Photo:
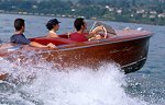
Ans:
[[[79,66],[97,69],[102,63],[116,62],[124,72],[133,72],[143,67],[147,58],[150,37],[124,42],[107,42],[95,45],[62,48],[61,50],[42,52],[47,61],[62,67]]]

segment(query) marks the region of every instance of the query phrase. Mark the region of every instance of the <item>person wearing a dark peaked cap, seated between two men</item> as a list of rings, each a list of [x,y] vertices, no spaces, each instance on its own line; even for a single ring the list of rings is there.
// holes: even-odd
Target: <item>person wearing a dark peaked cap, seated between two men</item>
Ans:
[[[59,28],[59,23],[57,19],[52,19],[47,22],[46,27],[50,31],[46,37],[58,37],[56,31]]]

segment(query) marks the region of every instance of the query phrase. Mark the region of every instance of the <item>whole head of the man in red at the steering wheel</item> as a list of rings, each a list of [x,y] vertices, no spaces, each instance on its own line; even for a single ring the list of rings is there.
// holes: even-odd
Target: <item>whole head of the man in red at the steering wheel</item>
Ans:
[[[80,31],[80,30],[86,30],[86,22],[82,18],[78,18],[75,20],[74,22],[74,26],[76,28],[76,31]]]

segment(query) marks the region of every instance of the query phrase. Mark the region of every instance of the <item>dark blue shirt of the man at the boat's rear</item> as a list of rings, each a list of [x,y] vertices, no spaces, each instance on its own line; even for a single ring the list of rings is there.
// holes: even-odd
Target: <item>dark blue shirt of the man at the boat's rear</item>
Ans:
[[[23,34],[14,34],[10,37],[10,42],[14,44],[23,44],[29,45],[31,40],[29,40]]]

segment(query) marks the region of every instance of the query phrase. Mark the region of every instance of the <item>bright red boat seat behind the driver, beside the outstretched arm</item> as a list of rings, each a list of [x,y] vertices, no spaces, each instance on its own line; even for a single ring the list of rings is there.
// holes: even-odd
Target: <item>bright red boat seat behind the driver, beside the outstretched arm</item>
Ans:
[[[47,45],[48,43],[53,43],[54,45],[66,45],[66,44],[74,44],[76,42],[67,39],[67,38],[62,38],[62,37],[37,37],[37,38],[31,38],[31,42],[36,42],[43,45]]]

